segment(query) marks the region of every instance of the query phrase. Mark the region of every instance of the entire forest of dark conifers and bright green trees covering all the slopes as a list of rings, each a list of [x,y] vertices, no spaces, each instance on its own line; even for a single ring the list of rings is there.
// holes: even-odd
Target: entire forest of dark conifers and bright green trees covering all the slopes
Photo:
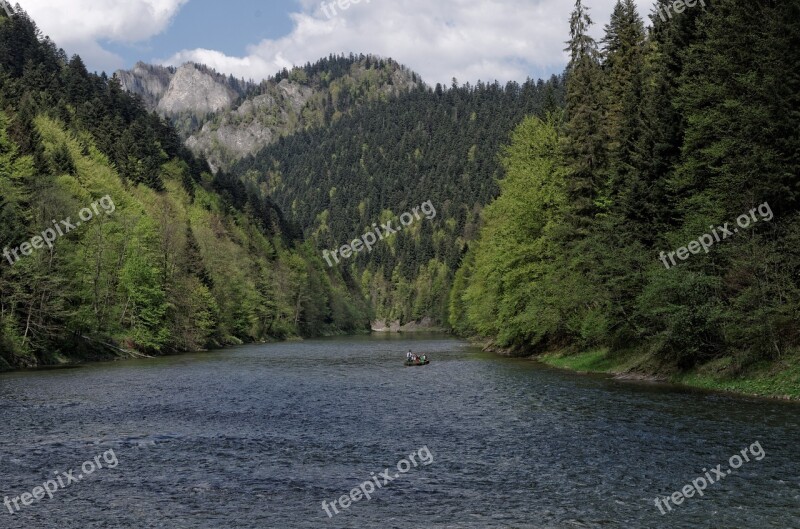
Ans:
[[[577,0],[547,81],[343,84],[314,101],[322,119],[216,174],[116,78],[0,13],[0,241],[117,205],[0,266],[0,367],[426,317],[516,354],[637,351],[653,369],[796,355],[800,1],[668,5],[645,24],[619,0],[595,40]],[[322,260],[426,201],[435,219]],[[764,205],[769,221],[680,257]]]

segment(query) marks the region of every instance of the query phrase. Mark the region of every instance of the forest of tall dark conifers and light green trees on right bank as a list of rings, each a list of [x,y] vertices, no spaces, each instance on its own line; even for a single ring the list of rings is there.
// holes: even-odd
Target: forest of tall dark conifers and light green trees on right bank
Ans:
[[[451,292],[460,333],[526,354],[638,351],[656,369],[796,356],[800,2],[651,22],[622,0],[596,42],[576,2],[566,106],[503,149],[500,196]],[[660,260],[764,204],[771,222]]]

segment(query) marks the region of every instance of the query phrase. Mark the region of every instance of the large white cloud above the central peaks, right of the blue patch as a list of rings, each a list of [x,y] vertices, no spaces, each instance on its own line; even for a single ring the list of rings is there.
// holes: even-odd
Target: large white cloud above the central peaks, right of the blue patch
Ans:
[[[352,1],[352,0],[351,0]],[[334,4],[338,0],[334,0]],[[636,0],[642,16],[653,0]],[[569,34],[570,0],[361,0],[347,9],[330,0],[299,0],[293,30],[248,46],[231,57],[214,50],[176,53],[163,64],[187,61],[245,79],[261,79],[283,67],[314,62],[330,53],[373,53],[392,57],[429,84],[478,79],[524,81],[560,72]],[[602,36],[616,0],[589,0],[595,36]]]

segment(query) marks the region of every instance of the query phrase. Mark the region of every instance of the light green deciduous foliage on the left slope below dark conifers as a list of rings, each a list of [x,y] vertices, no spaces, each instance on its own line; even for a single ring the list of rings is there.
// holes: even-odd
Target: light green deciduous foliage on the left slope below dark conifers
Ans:
[[[14,267],[0,263],[3,365],[35,364],[36,355],[51,355],[45,349],[74,355],[75,344],[64,341],[71,333],[84,337],[79,347],[111,342],[159,353],[366,326],[364,307],[308,248],[270,240],[208,189],[195,186],[192,200],[184,162],[162,167],[165,192],[125,186],[103,155],[84,148],[90,139],[48,118],[36,124],[45,151],[59,149],[74,175],[34,177],[31,157],[15,157],[0,126],[4,241],[13,247],[51,219],[74,221],[101,196],[115,209],[100,209],[52,251],[45,247]]]

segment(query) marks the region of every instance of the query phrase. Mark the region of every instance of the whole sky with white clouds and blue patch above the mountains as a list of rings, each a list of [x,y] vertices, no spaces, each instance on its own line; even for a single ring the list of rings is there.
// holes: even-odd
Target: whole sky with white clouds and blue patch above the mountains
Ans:
[[[13,1],[13,0],[12,0]],[[206,64],[259,81],[331,53],[391,57],[428,84],[561,73],[573,0],[19,0],[92,71]],[[616,0],[584,0],[594,36]],[[653,0],[636,0],[648,21]],[[346,6],[342,8],[340,6]]]

